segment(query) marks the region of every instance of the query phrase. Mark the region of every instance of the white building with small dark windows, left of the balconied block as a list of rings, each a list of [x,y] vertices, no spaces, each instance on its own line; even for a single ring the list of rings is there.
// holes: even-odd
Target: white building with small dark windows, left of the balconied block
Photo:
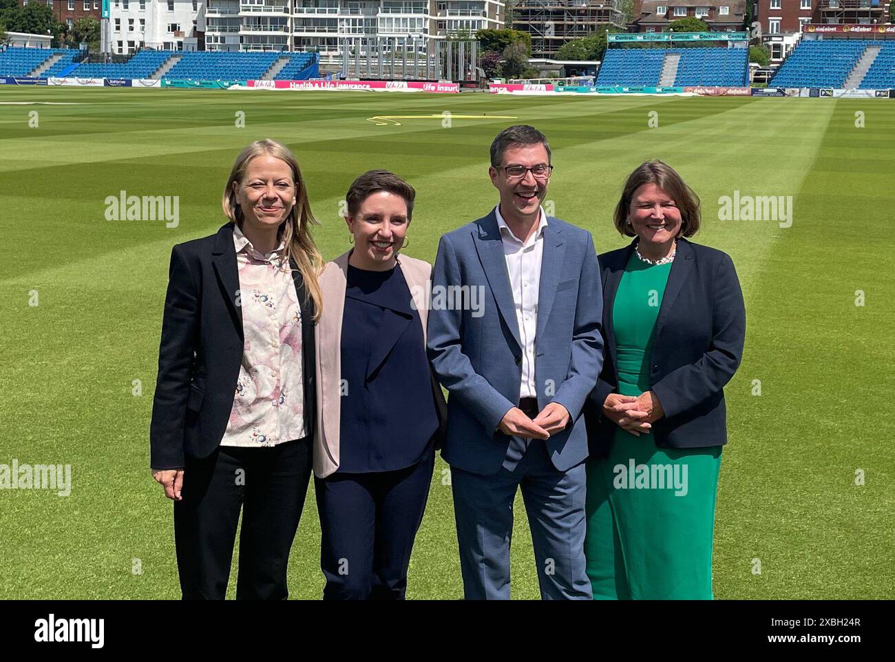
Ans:
[[[206,0],[110,0],[109,43],[115,54],[141,47],[197,50]]]

